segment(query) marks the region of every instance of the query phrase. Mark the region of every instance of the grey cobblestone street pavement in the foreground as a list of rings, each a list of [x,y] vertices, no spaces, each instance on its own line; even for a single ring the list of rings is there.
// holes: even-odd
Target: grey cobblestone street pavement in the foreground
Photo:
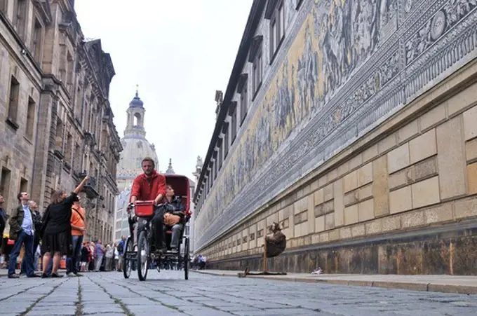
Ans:
[[[477,296],[149,270],[11,280],[0,315],[477,315]]]

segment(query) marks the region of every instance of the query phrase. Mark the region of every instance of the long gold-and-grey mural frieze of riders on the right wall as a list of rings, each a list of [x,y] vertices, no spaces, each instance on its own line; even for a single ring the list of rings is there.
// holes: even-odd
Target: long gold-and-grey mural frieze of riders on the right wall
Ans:
[[[196,247],[475,58],[476,1],[307,1],[196,220]]]

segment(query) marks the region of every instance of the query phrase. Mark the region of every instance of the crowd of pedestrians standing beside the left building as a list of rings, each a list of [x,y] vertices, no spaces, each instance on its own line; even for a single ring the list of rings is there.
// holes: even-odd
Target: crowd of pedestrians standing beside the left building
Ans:
[[[43,214],[29,194],[21,192],[17,196],[18,206],[9,217],[0,195],[2,237],[6,224],[10,225],[8,238],[1,239],[0,265],[8,267],[9,278],[62,277],[58,273],[60,267],[66,268],[67,275],[76,276],[86,271],[121,270],[124,236],[120,242],[106,245],[101,240],[83,241],[85,210],[78,193],[86,181],[88,177],[69,196],[65,191],[55,191]],[[38,270],[41,275],[36,274]]]

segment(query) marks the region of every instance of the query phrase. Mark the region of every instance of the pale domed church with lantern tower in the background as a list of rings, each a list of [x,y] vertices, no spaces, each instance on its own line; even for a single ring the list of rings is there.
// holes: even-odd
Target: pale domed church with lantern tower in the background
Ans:
[[[116,212],[114,212],[114,240],[120,240],[121,236],[129,235],[126,211],[133,181],[135,177],[142,174],[142,159],[152,158],[156,163],[156,170],[159,170],[156,147],[146,139],[146,109],[137,91],[135,97],[129,103],[126,113],[128,114],[128,121],[126,130],[124,130],[124,137],[121,138],[124,150],[121,152],[116,175],[116,184],[120,193],[116,204]]]

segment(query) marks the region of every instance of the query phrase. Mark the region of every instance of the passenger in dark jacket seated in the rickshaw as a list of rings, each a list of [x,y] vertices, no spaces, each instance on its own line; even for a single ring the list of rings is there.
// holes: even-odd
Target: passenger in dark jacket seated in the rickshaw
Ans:
[[[168,185],[166,187],[166,214],[164,214],[164,229],[171,229],[173,235],[170,241],[171,252],[177,252],[179,248],[180,232],[184,226],[184,206],[180,197],[174,195],[174,189]]]

